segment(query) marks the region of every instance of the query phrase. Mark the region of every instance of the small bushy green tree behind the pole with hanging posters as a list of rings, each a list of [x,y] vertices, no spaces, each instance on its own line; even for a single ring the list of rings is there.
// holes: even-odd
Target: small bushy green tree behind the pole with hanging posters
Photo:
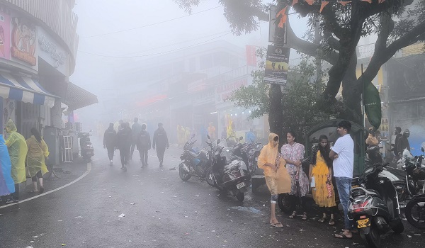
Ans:
[[[264,55],[263,51],[265,49],[259,50],[257,55]],[[279,137],[285,137],[288,130],[293,130],[297,133],[299,140],[304,140],[307,130],[312,125],[322,120],[329,120],[329,115],[320,111],[316,104],[317,92],[323,91],[324,84],[316,84],[312,81],[316,67],[314,62],[308,61],[308,57],[305,57],[300,64],[288,72],[287,87],[283,92],[278,91],[282,94],[280,103],[270,101],[269,94],[273,91],[270,91],[272,89],[270,84],[263,82],[263,62],[260,64],[260,69],[251,73],[252,84],[233,91],[228,100],[233,101],[236,106],[251,109],[249,118],[259,118],[265,114],[282,114],[284,118],[281,119],[281,123],[278,123],[277,127],[271,127],[271,130]],[[273,106],[277,105],[280,105],[278,106],[280,111],[273,109]],[[280,145],[283,145],[283,142]]]

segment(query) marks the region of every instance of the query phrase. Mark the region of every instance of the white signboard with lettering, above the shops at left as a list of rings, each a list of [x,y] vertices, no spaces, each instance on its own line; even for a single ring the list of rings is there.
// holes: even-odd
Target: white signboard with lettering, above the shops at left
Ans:
[[[38,56],[52,67],[69,76],[69,54],[62,46],[58,45],[54,38],[45,30],[37,27],[38,33]]]

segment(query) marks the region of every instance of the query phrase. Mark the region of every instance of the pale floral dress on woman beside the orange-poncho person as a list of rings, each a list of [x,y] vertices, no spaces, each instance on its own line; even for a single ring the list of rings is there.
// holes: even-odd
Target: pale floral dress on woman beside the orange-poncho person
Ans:
[[[290,159],[292,161],[300,161],[304,158],[305,148],[300,143],[294,143],[293,145],[283,145],[280,149],[280,154],[284,159]],[[296,167],[295,164],[286,164],[286,169],[290,174],[291,186],[290,195],[305,196],[308,193],[310,181],[307,175],[302,171],[301,167]],[[297,190],[297,181],[300,186],[300,190]]]

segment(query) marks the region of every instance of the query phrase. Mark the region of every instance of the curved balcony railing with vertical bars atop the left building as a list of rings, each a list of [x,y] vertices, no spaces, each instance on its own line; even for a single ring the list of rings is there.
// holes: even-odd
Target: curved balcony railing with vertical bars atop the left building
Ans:
[[[79,36],[77,35],[78,17],[72,11],[74,0],[5,0],[10,4],[40,19],[55,32],[69,47],[75,59]],[[71,68],[72,71],[74,68]]]

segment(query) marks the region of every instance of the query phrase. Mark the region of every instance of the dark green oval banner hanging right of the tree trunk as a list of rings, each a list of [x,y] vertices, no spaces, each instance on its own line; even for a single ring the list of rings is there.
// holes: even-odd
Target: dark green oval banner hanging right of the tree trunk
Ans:
[[[370,82],[365,86],[364,95],[365,114],[368,115],[370,125],[378,130],[382,118],[379,91]]]

